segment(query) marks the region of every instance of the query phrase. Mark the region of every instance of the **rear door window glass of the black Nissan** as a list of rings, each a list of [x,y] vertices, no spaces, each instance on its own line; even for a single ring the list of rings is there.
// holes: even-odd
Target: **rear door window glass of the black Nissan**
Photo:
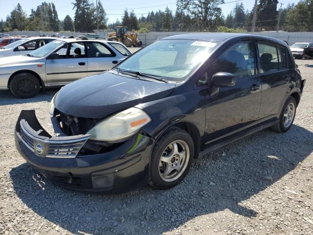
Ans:
[[[260,73],[278,70],[276,46],[270,43],[258,42],[258,49],[260,54]]]

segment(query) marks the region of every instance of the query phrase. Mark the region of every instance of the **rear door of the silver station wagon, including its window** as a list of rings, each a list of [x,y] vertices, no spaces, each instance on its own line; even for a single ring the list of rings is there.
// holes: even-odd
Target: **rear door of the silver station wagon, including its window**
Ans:
[[[119,57],[112,49],[99,42],[87,42],[88,76],[110,70],[118,63]]]

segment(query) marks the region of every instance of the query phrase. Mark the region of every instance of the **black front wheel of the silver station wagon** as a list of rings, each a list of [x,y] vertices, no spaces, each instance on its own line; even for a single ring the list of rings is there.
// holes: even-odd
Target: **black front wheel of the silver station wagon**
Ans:
[[[39,93],[40,82],[34,74],[21,72],[12,77],[9,88],[19,98],[30,98]]]

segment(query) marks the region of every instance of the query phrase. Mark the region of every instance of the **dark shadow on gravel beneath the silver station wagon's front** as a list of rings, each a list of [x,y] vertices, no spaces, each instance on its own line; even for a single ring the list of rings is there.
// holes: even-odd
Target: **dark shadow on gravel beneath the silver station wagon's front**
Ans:
[[[16,97],[9,90],[2,90],[0,91],[0,106],[10,105],[10,104],[33,103],[33,102],[41,102],[41,101],[50,102],[53,95],[56,94],[59,90],[60,88],[45,89],[45,91],[41,91],[36,96],[31,97],[31,98],[26,98],[26,99]]]

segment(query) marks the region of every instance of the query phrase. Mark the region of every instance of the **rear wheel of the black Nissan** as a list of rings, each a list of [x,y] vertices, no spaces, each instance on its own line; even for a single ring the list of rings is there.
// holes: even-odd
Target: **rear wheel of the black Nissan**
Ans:
[[[279,123],[272,126],[271,129],[279,133],[288,131],[292,126],[292,123],[296,114],[296,109],[297,109],[297,103],[295,99],[292,96],[290,96],[285,102],[285,105],[279,116]]]

